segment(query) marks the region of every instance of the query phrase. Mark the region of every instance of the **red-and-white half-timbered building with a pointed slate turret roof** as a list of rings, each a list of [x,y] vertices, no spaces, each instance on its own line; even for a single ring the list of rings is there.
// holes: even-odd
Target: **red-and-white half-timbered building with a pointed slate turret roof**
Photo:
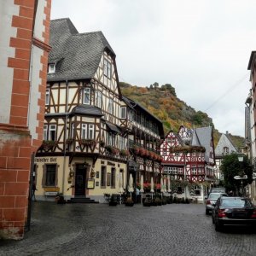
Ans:
[[[215,165],[212,127],[188,129],[183,125],[179,131],[170,131],[161,143],[162,173],[170,177],[172,193],[184,198],[203,200],[211,183]]]

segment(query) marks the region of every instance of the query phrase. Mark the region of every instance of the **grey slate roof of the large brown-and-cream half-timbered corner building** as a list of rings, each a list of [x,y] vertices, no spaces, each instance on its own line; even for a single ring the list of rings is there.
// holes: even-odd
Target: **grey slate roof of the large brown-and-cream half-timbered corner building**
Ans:
[[[104,50],[115,54],[102,32],[79,33],[68,18],[50,21],[49,63],[55,73],[48,81],[91,79],[100,64]]]

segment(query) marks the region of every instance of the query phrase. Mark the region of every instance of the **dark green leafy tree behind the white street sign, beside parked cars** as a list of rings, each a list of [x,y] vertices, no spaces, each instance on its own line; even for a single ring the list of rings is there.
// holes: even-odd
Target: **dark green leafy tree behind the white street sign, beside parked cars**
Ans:
[[[241,179],[235,179],[235,176],[247,175],[247,179],[242,180],[245,187],[248,183],[253,182],[253,166],[247,155],[243,155],[243,161],[238,160],[236,153],[227,154],[222,160],[220,171],[224,175],[224,187],[227,190],[239,190],[241,188]]]

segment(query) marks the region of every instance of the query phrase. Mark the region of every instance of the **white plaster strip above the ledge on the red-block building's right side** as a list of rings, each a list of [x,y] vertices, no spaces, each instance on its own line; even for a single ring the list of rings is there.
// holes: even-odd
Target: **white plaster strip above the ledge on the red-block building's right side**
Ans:
[[[44,42],[43,21],[46,19],[46,15],[44,15],[44,7],[46,7],[46,4],[47,3],[45,0],[38,0],[38,9],[37,9],[37,15],[36,15],[35,27],[34,27],[34,37],[40,39],[43,42]]]

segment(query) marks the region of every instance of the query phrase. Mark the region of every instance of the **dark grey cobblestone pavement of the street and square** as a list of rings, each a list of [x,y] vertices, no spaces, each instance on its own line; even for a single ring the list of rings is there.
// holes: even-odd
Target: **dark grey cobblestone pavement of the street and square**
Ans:
[[[216,232],[204,205],[35,202],[31,230],[22,241],[0,241],[0,255],[254,256],[256,231]]]

